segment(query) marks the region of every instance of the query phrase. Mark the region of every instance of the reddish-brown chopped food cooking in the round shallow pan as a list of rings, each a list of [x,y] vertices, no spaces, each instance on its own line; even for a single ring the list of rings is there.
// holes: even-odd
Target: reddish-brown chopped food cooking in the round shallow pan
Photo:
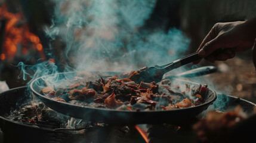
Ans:
[[[205,102],[207,85],[179,85],[170,79],[159,83],[131,80],[134,71],[97,80],[77,77],[66,85],[42,88],[41,94],[53,100],[116,110],[173,110]]]

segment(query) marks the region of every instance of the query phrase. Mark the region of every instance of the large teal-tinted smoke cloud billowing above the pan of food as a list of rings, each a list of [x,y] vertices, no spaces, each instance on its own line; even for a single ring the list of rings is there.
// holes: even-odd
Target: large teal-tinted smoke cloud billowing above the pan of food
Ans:
[[[155,1],[55,1],[53,26],[76,70],[130,71],[180,57],[190,41],[178,29],[141,28]],[[56,48],[56,47],[53,47]]]

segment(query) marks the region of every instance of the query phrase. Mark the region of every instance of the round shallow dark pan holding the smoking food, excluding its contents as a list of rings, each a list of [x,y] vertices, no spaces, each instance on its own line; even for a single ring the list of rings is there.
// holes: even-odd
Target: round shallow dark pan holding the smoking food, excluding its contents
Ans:
[[[90,120],[98,123],[125,123],[125,124],[140,124],[140,123],[171,123],[180,120],[186,120],[188,117],[193,117],[206,110],[217,98],[214,91],[209,89],[205,95],[205,102],[195,107],[187,107],[175,110],[154,110],[154,111],[127,111],[127,110],[114,110],[106,108],[94,108],[83,105],[70,104],[68,102],[56,101],[46,97],[40,93],[44,88],[45,82],[54,82],[60,80],[72,80],[76,76],[81,75],[79,72],[58,73],[47,76],[39,77],[30,83],[32,94],[36,95],[45,105],[52,108],[59,113],[66,114],[67,116],[75,117],[78,119]],[[104,75],[116,74],[115,72],[91,72],[90,77],[98,79]],[[100,75],[100,76],[99,76]],[[53,81],[54,80],[54,81]],[[186,80],[175,79],[172,82],[180,84],[189,83],[190,85],[199,85],[198,83],[188,82]],[[55,82],[53,84],[58,84]]]

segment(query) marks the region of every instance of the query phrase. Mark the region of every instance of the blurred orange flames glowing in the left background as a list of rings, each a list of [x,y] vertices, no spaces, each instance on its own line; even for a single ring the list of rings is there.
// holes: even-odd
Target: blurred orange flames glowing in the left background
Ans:
[[[13,60],[17,52],[26,56],[31,50],[37,50],[41,58],[45,57],[40,39],[29,31],[27,23],[24,23],[22,12],[10,13],[7,5],[3,4],[0,7],[0,18],[5,21],[3,43],[0,45],[2,46],[1,60]]]

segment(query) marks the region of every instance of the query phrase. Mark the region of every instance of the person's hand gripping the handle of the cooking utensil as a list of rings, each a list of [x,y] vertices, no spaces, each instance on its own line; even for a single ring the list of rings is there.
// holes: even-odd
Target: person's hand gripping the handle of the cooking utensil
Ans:
[[[248,21],[216,23],[197,51],[199,51],[199,56],[205,60],[226,61],[235,57],[236,52],[252,48],[255,38],[256,18]],[[200,61],[193,63],[198,64]]]

